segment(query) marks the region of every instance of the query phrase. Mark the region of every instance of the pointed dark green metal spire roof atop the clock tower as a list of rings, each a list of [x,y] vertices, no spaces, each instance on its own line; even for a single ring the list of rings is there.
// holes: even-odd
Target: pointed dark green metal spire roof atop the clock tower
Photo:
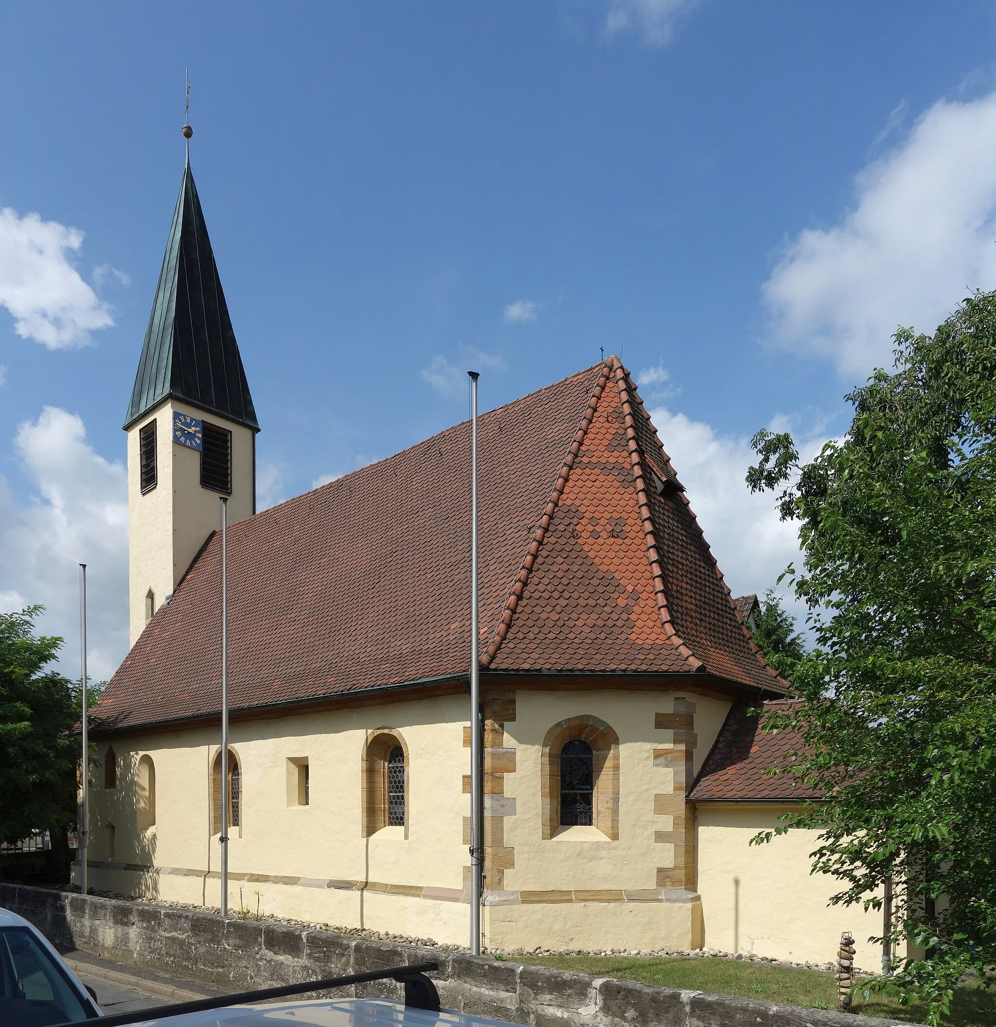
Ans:
[[[189,163],[169,227],[124,427],[167,396],[259,431]]]

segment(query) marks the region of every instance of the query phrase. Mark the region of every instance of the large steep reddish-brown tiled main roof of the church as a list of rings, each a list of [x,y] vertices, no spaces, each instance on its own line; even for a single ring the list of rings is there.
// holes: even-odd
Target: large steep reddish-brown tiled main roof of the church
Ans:
[[[466,674],[470,425],[264,510],[228,537],[233,710]],[[615,357],[480,420],[488,676],[707,676],[776,695]],[[219,709],[212,538],[104,692],[106,727]]]

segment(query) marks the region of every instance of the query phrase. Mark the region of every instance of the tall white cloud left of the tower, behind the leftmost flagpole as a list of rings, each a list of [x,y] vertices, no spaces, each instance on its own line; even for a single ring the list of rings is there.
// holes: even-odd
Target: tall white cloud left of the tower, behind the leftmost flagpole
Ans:
[[[82,420],[46,407],[14,449],[34,493],[18,503],[0,476],[0,609],[35,603],[61,635],[61,668],[79,675],[79,564],[87,564],[89,672],[109,677],[128,648],[127,480],[94,453]]]

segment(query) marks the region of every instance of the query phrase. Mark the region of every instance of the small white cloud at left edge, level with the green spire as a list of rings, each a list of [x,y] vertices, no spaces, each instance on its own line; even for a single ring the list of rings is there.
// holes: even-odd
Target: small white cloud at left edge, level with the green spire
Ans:
[[[82,244],[78,228],[0,210],[0,306],[13,315],[23,339],[66,349],[85,345],[90,332],[114,324],[110,308],[70,263]]]

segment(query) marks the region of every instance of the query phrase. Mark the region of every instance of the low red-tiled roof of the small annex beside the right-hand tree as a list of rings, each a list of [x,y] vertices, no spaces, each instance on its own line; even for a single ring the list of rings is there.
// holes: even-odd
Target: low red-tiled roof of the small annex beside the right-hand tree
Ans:
[[[765,702],[764,711],[786,701]],[[688,797],[695,802],[786,802],[818,799],[820,793],[798,785],[787,774],[771,774],[769,768],[784,767],[791,756],[804,749],[794,731],[765,734],[759,703],[734,702],[712,751],[702,764]]]

